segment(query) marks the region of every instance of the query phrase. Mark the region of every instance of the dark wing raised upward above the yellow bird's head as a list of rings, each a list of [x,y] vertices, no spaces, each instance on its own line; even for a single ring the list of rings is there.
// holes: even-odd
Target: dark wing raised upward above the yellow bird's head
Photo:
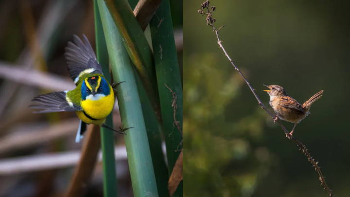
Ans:
[[[70,77],[77,84],[79,76],[84,73],[100,73],[102,74],[101,65],[96,60],[95,52],[93,51],[88,38],[83,35],[83,41],[74,35],[74,43],[68,42],[66,47],[65,59],[68,64]]]

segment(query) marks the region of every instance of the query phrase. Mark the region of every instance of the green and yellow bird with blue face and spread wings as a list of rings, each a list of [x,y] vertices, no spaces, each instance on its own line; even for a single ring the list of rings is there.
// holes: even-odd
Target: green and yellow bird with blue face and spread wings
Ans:
[[[125,134],[123,131],[128,128],[114,130],[105,125],[105,118],[111,113],[114,106],[114,89],[105,79],[88,38],[83,35],[84,44],[78,36],[73,37],[75,44],[68,42],[64,55],[70,77],[77,87],[70,91],[39,95],[32,100],[39,105],[30,107],[42,109],[36,111],[38,113],[75,111],[80,119],[76,143],[83,138],[86,124],[100,125]]]

